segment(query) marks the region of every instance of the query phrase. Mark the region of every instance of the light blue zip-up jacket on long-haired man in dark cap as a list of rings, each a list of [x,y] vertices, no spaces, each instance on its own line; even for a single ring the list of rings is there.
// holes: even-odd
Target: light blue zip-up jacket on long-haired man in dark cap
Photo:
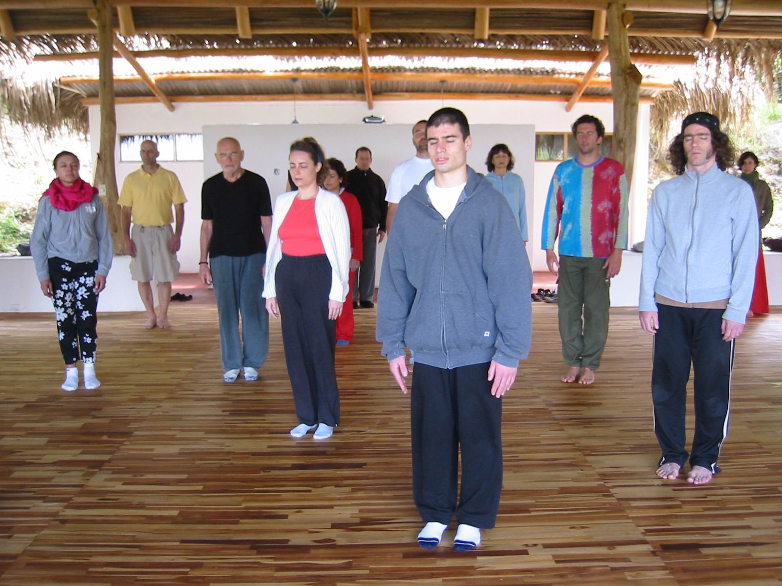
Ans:
[[[746,181],[716,165],[663,181],[649,202],[638,310],[657,311],[655,293],[683,303],[727,299],[723,318],[744,323],[758,239]]]

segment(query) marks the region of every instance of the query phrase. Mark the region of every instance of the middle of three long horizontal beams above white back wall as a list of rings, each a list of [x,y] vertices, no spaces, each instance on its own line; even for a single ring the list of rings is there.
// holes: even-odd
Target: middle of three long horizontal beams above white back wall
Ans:
[[[301,81],[361,81],[364,78],[363,72],[358,71],[251,71],[246,73],[225,72],[225,73],[166,73],[156,75],[154,79],[157,83],[166,81],[187,82],[187,81],[281,81],[296,77]],[[438,82],[441,80],[450,83],[476,83],[487,82],[492,84],[513,84],[513,85],[579,85],[583,80],[578,77],[564,75],[526,75],[518,73],[480,73],[476,77],[475,73],[458,72],[436,72],[436,71],[395,71],[388,73],[384,71],[372,71],[372,80],[375,81],[417,81],[417,82]],[[60,77],[59,83],[63,85],[71,84],[97,84],[98,77],[70,76]],[[142,82],[138,76],[114,77],[115,84],[138,84]],[[592,88],[611,88],[611,80],[599,79],[592,80]],[[669,90],[673,84],[644,80],[641,88],[646,90]]]

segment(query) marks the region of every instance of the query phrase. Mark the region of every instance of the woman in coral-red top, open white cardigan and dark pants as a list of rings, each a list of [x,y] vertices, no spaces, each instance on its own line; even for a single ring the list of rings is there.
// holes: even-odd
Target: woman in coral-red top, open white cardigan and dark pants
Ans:
[[[325,439],[339,424],[334,367],[335,320],[348,292],[350,227],[339,197],[318,187],[325,176],[323,149],[314,138],[291,145],[296,191],[279,195],[266,256],[266,309],[282,317],[282,345],[302,438],[317,427]]]

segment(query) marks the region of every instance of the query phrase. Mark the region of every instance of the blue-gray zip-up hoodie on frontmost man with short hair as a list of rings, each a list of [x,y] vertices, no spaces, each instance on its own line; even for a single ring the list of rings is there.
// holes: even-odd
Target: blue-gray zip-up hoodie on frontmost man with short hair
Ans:
[[[454,211],[443,219],[426,193],[434,171],[402,198],[378,293],[377,338],[388,359],[456,368],[529,354],[532,271],[504,196],[468,167]]]

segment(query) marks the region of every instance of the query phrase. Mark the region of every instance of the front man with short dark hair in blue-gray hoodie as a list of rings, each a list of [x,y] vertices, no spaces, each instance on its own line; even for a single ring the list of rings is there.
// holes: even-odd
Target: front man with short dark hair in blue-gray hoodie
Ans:
[[[425,521],[418,544],[436,548],[455,512],[454,549],[467,551],[497,517],[500,398],[529,353],[532,272],[508,202],[467,166],[472,138],[464,113],[438,110],[426,134],[435,170],[396,210],[377,338],[404,393],[404,348],[415,352],[413,495]]]

